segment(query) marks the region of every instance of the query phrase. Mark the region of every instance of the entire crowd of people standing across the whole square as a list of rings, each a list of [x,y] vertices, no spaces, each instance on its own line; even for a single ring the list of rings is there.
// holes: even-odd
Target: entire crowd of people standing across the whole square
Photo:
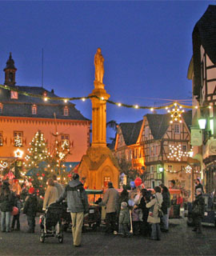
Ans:
[[[46,193],[42,209],[46,210],[53,202],[62,202],[66,199],[68,210],[72,219],[72,234],[74,246],[81,246],[82,224],[84,214],[88,212],[88,199],[78,174],[72,176],[69,184],[63,188],[58,183],[56,176],[47,181]],[[38,199],[33,186],[25,185],[19,193],[10,189],[10,183],[4,181],[1,187],[1,230],[10,232],[20,230],[19,216],[21,210],[26,214],[29,229],[34,233],[35,217],[38,211]],[[201,220],[204,214],[205,202],[202,197],[203,188],[200,180],[195,187],[196,199],[193,203],[194,231],[201,233]],[[155,186],[154,190],[142,189],[137,186],[133,190],[123,189],[119,194],[114,189],[112,182],[108,183],[108,189],[103,197],[98,200],[99,206],[106,208],[106,234],[121,234],[122,238],[130,238],[131,235],[142,234],[153,240],[161,240],[161,231],[169,231],[170,192],[164,186]],[[11,212],[17,207],[18,213],[10,222]]]

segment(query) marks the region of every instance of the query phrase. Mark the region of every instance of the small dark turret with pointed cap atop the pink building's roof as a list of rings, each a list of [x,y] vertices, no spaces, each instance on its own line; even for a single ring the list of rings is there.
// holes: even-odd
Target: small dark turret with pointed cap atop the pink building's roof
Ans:
[[[12,58],[12,54],[10,53],[9,59],[6,62],[5,71],[5,85],[6,86],[14,86],[16,83],[15,75],[17,69],[14,66],[14,60]]]

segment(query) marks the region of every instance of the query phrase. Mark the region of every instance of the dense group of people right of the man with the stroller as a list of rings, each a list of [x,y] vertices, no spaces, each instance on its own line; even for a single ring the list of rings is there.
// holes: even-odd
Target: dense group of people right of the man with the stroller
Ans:
[[[123,238],[142,234],[160,240],[161,230],[169,230],[170,193],[163,185],[155,186],[151,192],[138,186],[130,192],[123,189],[118,196],[118,191],[109,182],[100,203],[106,206],[106,233],[122,234]],[[162,218],[158,216],[160,210]]]

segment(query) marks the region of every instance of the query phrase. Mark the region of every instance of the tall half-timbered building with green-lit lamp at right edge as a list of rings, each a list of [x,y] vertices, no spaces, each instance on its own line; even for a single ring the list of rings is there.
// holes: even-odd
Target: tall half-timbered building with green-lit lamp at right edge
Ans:
[[[193,30],[193,57],[187,77],[192,80],[193,126],[198,129],[198,118],[206,118],[200,132],[202,142],[194,142],[194,155],[202,166],[202,181],[206,192],[216,187],[216,6],[208,6]],[[193,140],[193,137],[192,137]]]

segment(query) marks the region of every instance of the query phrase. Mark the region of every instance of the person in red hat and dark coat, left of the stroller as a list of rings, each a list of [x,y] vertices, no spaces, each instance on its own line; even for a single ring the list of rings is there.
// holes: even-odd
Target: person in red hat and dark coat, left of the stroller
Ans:
[[[26,214],[29,225],[28,233],[34,233],[35,217],[38,210],[38,199],[34,193],[34,187],[30,187],[29,195],[26,197],[26,202],[23,208],[23,214]]]

